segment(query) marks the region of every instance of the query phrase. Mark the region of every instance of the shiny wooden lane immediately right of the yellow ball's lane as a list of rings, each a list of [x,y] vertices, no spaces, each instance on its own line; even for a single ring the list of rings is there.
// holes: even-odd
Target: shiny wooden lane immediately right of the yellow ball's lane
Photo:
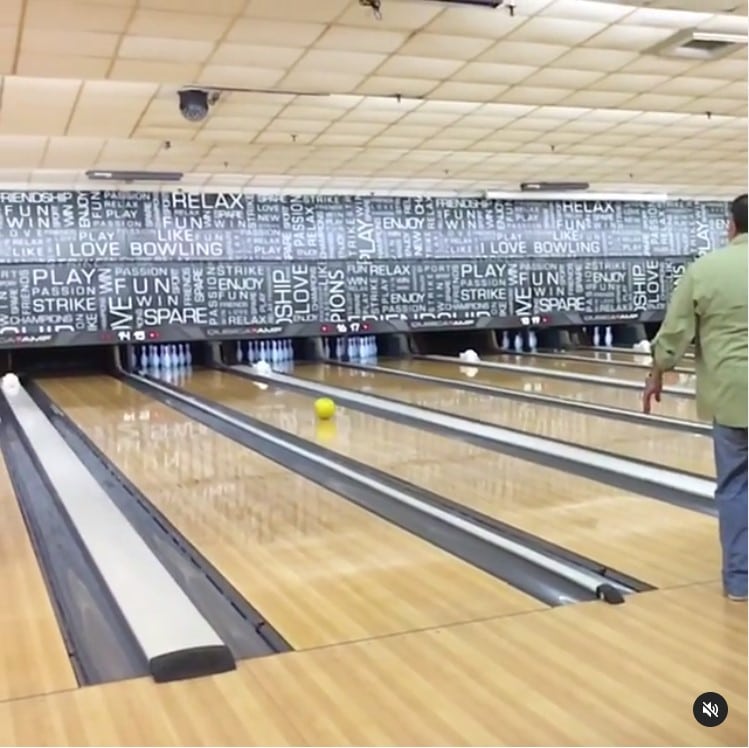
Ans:
[[[603,449],[622,457],[646,460],[709,477],[715,475],[710,439],[699,434],[667,431],[552,405],[522,403],[451,389],[446,385],[406,379],[397,374],[324,364],[299,366],[294,373],[335,387],[366,389],[372,395],[391,397],[497,426]]]

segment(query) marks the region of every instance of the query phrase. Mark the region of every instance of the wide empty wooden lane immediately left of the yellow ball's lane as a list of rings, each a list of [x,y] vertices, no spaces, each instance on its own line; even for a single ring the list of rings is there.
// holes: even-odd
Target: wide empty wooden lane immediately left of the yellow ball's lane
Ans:
[[[296,648],[543,607],[121,382],[41,384]]]

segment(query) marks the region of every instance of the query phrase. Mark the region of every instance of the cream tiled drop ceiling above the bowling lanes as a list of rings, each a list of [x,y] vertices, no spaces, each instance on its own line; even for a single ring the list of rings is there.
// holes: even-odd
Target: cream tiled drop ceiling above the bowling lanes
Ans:
[[[687,29],[745,37],[746,4],[382,0],[376,20],[359,0],[1,0],[0,186],[127,169],[206,190],[730,196],[746,46],[653,51]],[[192,123],[189,85],[325,95],[224,93]]]

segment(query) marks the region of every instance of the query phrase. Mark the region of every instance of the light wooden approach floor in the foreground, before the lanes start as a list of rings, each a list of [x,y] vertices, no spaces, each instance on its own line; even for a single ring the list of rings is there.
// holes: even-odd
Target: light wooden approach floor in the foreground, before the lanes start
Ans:
[[[3,745],[747,744],[746,607],[649,592],[0,704]],[[704,728],[706,690],[728,717]]]

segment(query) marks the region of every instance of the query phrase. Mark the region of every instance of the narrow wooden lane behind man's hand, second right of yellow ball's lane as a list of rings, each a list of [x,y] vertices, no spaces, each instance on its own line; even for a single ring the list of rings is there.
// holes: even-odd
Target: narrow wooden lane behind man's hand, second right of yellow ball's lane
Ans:
[[[554,379],[536,374],[521,374],[515,371],[490,369],[481,366],[459,366],[443,361],[425,359],[382,360],[381,366],[389,369],[402,369],[417,374],[427,374],[443,379],[458,379],[489,387],[502,387],[511,390],[522,390],[539,395],[559,397],[565,400],[594,403],[611,408],[642,411],[642,393],[639,390],[609,387],[588,382],[572,382]],[[644,379],[644,376],[643,376]],[[693,397],[664,394],[660,403],[654,404],[654,413],[685,421],[697,421],[697,405]]]

